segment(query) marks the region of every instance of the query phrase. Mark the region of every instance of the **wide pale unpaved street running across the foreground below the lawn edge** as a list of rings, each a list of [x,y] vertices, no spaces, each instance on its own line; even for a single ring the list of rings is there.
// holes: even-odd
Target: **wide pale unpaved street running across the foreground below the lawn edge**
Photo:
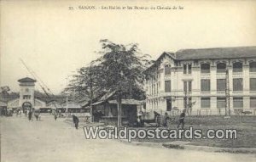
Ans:
[[[117,140],[84,138],[63,120],[43,116],[29,122],[25,117],[1,117],[1,161],[255,161],[253,154],[207,153],[133,146]]]

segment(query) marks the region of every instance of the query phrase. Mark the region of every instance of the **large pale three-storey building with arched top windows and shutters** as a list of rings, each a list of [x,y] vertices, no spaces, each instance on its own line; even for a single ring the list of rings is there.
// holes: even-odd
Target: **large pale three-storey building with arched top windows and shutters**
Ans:
[[[145,71],[146,109],[224,115],[256,109],[256,47],[162,53]]]

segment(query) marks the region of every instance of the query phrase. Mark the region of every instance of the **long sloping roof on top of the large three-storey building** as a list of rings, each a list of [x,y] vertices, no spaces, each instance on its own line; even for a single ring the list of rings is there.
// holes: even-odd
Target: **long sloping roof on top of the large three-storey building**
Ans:
[[[172,55],[173,57],[173,55]],[[175,59],[233,59],[256,57],[256,46],[216,47],[201,49],[182,49],[175,53]]]

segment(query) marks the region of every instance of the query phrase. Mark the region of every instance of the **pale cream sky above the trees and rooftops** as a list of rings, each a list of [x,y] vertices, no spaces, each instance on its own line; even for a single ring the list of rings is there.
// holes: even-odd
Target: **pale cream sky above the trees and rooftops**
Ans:
[[[0,86],[18,92],[17,80],[32,75],[55,94],[71,75],[98,58],[101,39],[128,44],[157,59],[183,48],[256,45],[253,1],[1,1]],[[96,9],[79,9],[95,6]],[[183,9],[101,9],[108,6]],[[68,7],[73,7],[69,10]],[[41,91],[41,88],[36,86]]]

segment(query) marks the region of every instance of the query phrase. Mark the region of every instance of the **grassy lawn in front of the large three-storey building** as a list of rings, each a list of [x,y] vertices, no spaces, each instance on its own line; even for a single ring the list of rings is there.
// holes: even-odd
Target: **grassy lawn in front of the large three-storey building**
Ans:
[[[224,116],[188,116],[185,119],[185,129],[192,126],[193,129],[201,129],[203,135],[207,130],[213,129],[236,129],[237,139],[134,139],[137,142],[172,142],[186,141],[191,145],[209,146],[219,148],[256,148],[256,116],[231,116],[230,119],[224,119]],[[177,129],[177,122],[172,122],[168,129]],[[150,129],[156,127],[150,127]],[[149,129],[142,127],[137,129]],[[163,128],[160,128],[163,129]]]

